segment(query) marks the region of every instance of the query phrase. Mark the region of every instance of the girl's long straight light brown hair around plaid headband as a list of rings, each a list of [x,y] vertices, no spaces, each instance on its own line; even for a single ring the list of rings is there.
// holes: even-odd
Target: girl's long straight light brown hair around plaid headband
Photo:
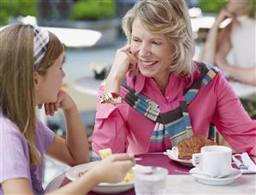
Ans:
[[[30,163],[40,162],[35,147],[34,71],[45,76],[47,68],[63,53],[63,44],[51,32],[38,69],[33,66],[33,27],[15,24],[0,31],[0,107],[27,139]]]

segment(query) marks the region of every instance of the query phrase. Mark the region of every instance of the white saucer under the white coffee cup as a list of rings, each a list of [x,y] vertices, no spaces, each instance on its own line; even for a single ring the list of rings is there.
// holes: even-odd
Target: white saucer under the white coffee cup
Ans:
[[[200,183],[207,184],[207,185],[227,185],[232,183],[235,179],[241,176],[241,170],[237,168],[232,168],[231,174],[224,178],[211,178],[205,174],[195,174],[200,173],[201,171],[199,168],[192,168],[190,169],[189,173],[195,177]]]

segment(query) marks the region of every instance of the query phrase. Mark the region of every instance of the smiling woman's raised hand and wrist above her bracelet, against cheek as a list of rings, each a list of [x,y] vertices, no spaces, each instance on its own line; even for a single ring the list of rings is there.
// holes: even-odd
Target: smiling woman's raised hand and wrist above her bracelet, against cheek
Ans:
[[[119,93],[120,85],[125,79],[125,75],[129,70],[136,71],[136,58],[130,53],[130,45],[126,44],[124,47],[116,51],[116,57],[110,74],[106,79],[105,92]]]

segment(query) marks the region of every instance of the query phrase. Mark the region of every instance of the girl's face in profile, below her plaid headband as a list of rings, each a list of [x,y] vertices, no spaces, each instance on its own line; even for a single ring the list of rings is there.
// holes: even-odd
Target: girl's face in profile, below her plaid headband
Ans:
[[[65,73],[63,71],[64,52],[58,56],[57,60],[47,69],[45,76],[35,73],[35,95],[36,103],[55,103],[57,93],[63,85]]]

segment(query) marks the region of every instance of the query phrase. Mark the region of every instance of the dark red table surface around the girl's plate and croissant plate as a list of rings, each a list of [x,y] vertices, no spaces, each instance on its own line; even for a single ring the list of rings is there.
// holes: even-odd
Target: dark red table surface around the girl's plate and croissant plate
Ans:
[[[144,165],[144,166],[159,166],[163,168],[167,168],[169,171],[169,174],[182,174],[179,172],[176,172],[175,170],[181,170],[181,171],[189,171],[191,167],[184,166],[180,164],[179,162],[172,161],[167,155],[164,155],[163,153],[154,153],[154,154],[140,154],[136,155],[135,157],[140,157],[141,160],[137,161],[138,164]],[[70,180],[68,178],[65,178],[63,180],[63,183],[61,186],[65,186],[68,184]],[[96,195],[99,193],[96,192],[89,192],[88,194],[90,195]],[[131,190],[128,190],[127,192],[121,192],[121,193],[116,193],[122,194],[122,195],[134,195],[134,188]]]

